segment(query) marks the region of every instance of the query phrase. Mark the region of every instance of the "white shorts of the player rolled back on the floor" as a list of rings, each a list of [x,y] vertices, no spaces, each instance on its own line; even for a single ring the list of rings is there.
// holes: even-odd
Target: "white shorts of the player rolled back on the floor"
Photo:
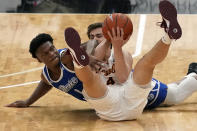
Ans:
[[[142,114],[152,86],[151,82],[145,86],[135,84],[131,73],[122,85],[107,88],[102,98],[91,98],[85,90],[83,95],[101,119],[121,121],[137,119]]]

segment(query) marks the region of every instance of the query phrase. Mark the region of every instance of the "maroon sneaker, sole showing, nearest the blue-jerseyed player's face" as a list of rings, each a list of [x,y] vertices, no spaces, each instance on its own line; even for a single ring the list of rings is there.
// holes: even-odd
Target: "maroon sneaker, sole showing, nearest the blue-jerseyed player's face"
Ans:
[[[65,29],[64,36],[73,61],[77,64],[75,66],[82,68],[88,65],[89,57],[85,50],[80,48],[81,38],[78,32],[74,28],[69,27]]]

